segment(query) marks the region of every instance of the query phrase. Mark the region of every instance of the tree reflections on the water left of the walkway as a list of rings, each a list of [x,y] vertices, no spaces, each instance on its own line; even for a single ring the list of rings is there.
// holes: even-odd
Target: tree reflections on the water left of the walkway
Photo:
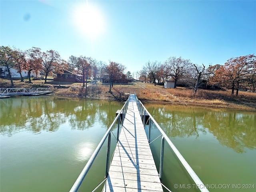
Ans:
[[[52,96],[9,98],[0,100],[0,133],[12,136],[22,130],[36,134],[54,132],[67,119],[72,129],[88,129],[99,121],[108,127],[112,123],[108,118],[113,115],[112,109],[114,111],[118,107],[111,101],[91,102]]]

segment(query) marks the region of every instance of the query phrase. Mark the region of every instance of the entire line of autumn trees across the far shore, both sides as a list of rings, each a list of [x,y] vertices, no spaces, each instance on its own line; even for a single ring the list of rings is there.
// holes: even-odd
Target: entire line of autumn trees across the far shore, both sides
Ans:
[[[65,61],[54,50],[42,52],[40,48],[36,47],[22,51],[9,46],[1,46],[0,66],[6,67],[12,86],[14,84],[10,68],[15,68],[20,73],[21,81],[24,81],[21,71],[28,71],[29,83],[31,83],[31,71],[36,72],[36,74],[43,72],[45,76],[44,83],[46,83],[47,76],[53,73],[62,74],[64,70],[69,70],[82,76],[83,87],[87,87],[86,79],[88,77],[96,80],[106,74],[110,83],[109,92],[111,92],[113,82],[122,82],[126,79],[124,74],[126,67],[118,62],[109,61],[109,64],[106,64],[106,62],[97,61],[86,56],[70,56],[68,61]],[[130,72],[127,72],[127,75],[132,76]],[[204,64],[193,64],[190,60],[173,56],[165,62],[146,62],[142,66],[142,70],[136,72],[136,76],[139,76],[139,80],[154,82],[155,85],[156,82],[171,80],[174,81],[174,88],[176,88],[178,82],[183,82],[185,86],[194,89],[194,94],[202,85],[202,82],[205,82],[205,86],[230,88],[232,94],[236,90],[236,95],[238,95],[240,88],[250,88],[255,92],[256,56],[249,54],[230,58],[224,65],[209,65],[208,68]]]

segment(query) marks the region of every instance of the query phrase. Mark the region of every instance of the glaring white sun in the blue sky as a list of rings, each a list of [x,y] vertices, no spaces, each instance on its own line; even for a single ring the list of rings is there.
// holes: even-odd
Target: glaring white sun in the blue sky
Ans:
[[[79,6],[75,10],[74,20],[82,34],[94,37],[103,31],[103,18],[95,7],[89,5]]]

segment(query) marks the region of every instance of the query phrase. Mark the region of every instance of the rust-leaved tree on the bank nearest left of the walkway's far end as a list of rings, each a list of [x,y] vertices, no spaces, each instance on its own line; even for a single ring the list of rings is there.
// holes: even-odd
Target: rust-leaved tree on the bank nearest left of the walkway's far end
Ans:
[[[113,87],[113,81],[118,80],[118,78],[122,78],[122,74],[124,72],[124,66],[122,64],[116,62],[109,62],[109,65],[106,67],[106,72],[108,73],[109,77],[109,92],[111,92],[111,87]]]

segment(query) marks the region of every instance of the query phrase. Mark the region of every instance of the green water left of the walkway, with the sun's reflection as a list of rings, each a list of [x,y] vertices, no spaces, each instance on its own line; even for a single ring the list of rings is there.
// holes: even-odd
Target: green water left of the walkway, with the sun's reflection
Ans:
[[[70,190],[122,106],[116,101],[55,96],[0,100],[1,191]],[[92,191],[104,179],[104,147],[83,191]]]

